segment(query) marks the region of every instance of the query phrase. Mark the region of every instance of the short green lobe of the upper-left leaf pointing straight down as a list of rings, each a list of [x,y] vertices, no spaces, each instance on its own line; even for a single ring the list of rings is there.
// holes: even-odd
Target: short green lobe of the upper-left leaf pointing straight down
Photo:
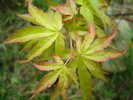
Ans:
[[[63,52],[65,50],[65,41],[64,41],[64,35],[59,34],[56,41],[55,41],[55,54],[62,56]]]

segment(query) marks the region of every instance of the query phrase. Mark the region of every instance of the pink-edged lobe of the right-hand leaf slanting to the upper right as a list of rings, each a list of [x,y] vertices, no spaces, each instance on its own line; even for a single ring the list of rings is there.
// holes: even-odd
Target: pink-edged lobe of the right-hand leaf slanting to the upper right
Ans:
[[[96,39],[90,47],[86,50],[85,54],[90,54],[93,52],[101,51],[104,48],[108,47],[112,41],[112,39],[116,36],[117,30],[114,31],[114,33],[100,37]]]

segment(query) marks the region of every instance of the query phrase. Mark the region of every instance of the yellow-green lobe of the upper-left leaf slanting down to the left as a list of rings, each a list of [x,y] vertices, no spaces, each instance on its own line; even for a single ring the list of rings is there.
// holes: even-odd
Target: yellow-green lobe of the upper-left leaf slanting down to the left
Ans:
[[[28,61],[32,60],[34,57],[41,55],[43,51],[45,51],[48,47],[52,45],[57,36],[58,34],[55,34],[41,39],[27,55]]]

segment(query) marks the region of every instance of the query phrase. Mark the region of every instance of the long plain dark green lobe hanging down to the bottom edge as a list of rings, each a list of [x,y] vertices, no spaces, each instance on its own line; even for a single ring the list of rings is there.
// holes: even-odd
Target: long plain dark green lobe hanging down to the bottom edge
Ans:
[[[92,95],[91,77],[85,65],[83,64],[81,57],[79,57],[78,59],[78,77],[79,77],[83,100],[90,100]]]

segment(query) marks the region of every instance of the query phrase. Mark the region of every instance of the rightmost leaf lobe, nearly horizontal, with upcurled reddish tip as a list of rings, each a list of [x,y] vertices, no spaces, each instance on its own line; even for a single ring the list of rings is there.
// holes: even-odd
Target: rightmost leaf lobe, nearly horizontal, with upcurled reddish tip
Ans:
[[[127,51],[127,48],[124,51],[117,50],[102,50],[100,52],[94,52],[91,54],[86,54],[85,57],[97,62],[107,61],[113,58],[117,58],[123,55]]]

